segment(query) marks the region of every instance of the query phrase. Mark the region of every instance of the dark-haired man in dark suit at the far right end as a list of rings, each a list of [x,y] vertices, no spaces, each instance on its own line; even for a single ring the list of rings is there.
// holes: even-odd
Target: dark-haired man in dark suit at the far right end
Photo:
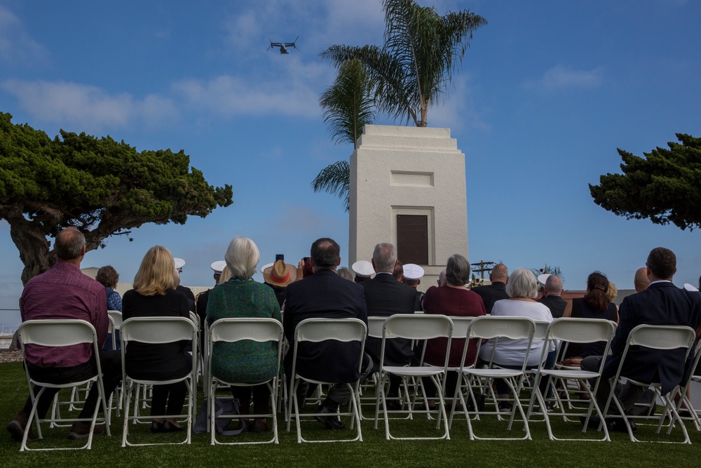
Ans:
[[[611,342],[611,356],[606,358],[597,402],[604,409],[609,380],[620,364],[625,343],[630,331],[643,323],[649,325],[690,326],[694,330],[701,324],[701,295],[679,289],[672,283],[676,273],[676,256],[667,248],[658,247],[648,255],[647,274],[650,286],[640,293],[629,295],[620,305],[620,323]],[[688,378],[693,362],[693,353],[684,360],[683,349],[652,350],[632,347],[628,350],[621,375],[638,382],[660,382],[666,394]],[[589,356],[582,361],[585,370],[597,370],[601,356]],[[627,411],[639,400],[644,387],[627,384],[618,395]]]

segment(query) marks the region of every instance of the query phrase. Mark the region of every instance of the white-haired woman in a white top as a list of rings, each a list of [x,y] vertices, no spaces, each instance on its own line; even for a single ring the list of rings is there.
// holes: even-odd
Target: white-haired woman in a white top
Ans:
[[[494,307],[491,309],[492,316],[519,316],[529,317],[535,321],[552,322],[552,314],[550,309],[545,305],[536,301],[538,297],[538,283],[536,276],[531,270],[526,268],[517,268],[509,276],[509,282],[506,283],[506,293],[508,299],[502,299],[494,302]],[[540,355],[543,352],[545,340],[533,340],[529,352],[528,362],[526,366],[529,368],[538,367],[540,363]],[[517,368],[523,366],[528,350],[528,340],[510,340],[501,338],[494,349],[494,340],[489,340],[482,348],[479,349],[479,358],[482,361],[489,361],[492,351],[494,351],[494,364],[504,368]],[[554,345],[551,351],[554,351]],[[500,410],[509,410],[510,404],[508,401],[509,387],[501,379],[494,380]]]

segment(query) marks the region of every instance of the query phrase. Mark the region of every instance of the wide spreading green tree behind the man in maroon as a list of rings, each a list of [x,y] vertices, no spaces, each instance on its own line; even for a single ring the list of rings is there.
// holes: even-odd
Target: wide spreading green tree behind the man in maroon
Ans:
[[[170,149],[137,152],[125,142],[13,124],[0,113],[0,218],[25,264],[22,282],[53,264],[47,236],[74,226],[87,250],[147,222],[184,224],[232,203],[231,185],[212,187],[190,158]]]

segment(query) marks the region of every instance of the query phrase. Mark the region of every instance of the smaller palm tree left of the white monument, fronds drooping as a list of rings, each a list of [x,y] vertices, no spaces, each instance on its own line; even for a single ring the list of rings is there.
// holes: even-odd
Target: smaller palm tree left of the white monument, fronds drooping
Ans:
[[[375,116],[372,88],[370,75],[360,60],[341,63],[336,81],[320,99],[324,121],[336,145],[352,143],[355,149],[362,128],[372,123]],[[349,179],[348,161],[337,161],[318,173],[312,187],[314,192],[339,196],[343,199],[343,208],[348,211]]]

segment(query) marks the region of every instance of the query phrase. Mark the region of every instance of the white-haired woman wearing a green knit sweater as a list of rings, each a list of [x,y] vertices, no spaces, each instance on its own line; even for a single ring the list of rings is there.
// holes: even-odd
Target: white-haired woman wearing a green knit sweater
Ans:
[[[280,305],[271,288],[253,281],[260,255],[258,247],[245,237],[235,237],[226,250],[224,260],[231,279],[220,283],[210,292],[207,300],[207,325],[219,319],[233,317],[275,319],[280,321]],[[273,342],[242,341],[216,343],[212,350],[212,374],[230,382],[263,382],[278,372],[277,345]],[[265,384],[254,387],[231,387],[234,398],[240,401],[242,415],[250,414],[251,393],[253,412],[267,413],[270,390]],[[268,429],[266,420],[241,420],[243,427],[252,432]]]

